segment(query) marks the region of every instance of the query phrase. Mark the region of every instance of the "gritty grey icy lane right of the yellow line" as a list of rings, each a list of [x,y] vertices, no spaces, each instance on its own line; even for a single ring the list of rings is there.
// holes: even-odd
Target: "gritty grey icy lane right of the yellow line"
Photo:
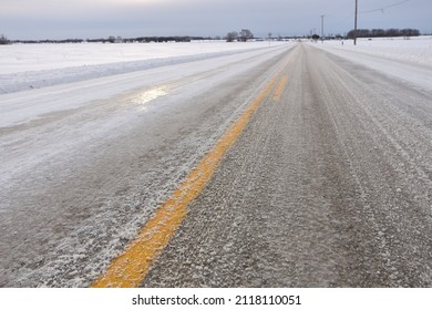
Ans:
[[[432,96],[301,44],[143,287],[431,287]]]

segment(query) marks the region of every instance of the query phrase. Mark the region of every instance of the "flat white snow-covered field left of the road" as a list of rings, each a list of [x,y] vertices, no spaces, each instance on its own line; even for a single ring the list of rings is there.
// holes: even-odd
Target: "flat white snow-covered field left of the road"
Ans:
[[[272,43],[275,44],[277,43]],[[3,45],[0,46],[0,94],[212,59],[267,46],[268,42],[206,41]]]

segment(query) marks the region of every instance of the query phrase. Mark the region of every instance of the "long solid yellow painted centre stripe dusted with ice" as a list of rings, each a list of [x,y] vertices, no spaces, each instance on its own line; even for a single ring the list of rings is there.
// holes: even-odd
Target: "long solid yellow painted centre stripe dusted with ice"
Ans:
[[[240,135],[260,103],[270,94],[277,76],[268,82],[236,123],[223,135],[216,146],[187,175],[171,198],[157,209],[154,217],[147,221],[135,240],[111,262],[106,272],[96,279],[91,287],[133,288],[140,286],[152,264],[161,255],[185,218],[187,205],[202,193],[224,154]]]

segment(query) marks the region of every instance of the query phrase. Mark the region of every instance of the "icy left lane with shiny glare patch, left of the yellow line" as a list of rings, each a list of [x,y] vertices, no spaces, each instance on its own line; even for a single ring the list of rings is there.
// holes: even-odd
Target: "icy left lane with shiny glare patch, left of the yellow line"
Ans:
[[[0,95],[0,286],[88,286],[291,46]]]

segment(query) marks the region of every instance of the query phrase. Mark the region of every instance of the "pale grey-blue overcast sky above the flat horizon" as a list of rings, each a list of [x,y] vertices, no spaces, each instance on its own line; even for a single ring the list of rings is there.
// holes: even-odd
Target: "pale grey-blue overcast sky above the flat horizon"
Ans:
[[[432,33],[432,0],[358,0],[359,28]],[[380,10],[383,9],[383,10]],[[374,11],[376,10],[376,11]],[[0,0],[0,33],[18,39],[121,35],[343,34],[354,0]]]

